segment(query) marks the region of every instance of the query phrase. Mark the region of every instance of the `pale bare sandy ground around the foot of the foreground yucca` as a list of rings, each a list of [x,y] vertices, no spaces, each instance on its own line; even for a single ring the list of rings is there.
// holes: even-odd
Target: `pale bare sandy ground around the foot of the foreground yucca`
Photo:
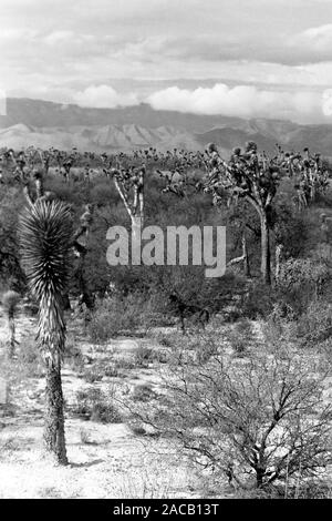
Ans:
[[[70,325],[70,328],[73,327]],[[19,315],[18,349],[33,339],[35,319]],[[0,309],[0,349],[6,348],[7,323]],[[142,340],[117,339],[106,355],[84,338],[75,345],[89,361],[112,356],[131,356]],[[146,341],[146,340],[143,340]],[[107,391],[121,378],[103,378],[94,387]],[[153,368],[128,372],[128,388],[158,385]],[[136,436],[126,423],[86,421],[71,412],[75,394],[91,384],[69,366],[63,368],[66,402],[65,436],[70,464],[54,467],[42,450],[44,379],[28,378],[13,385],[10,411],[4,408],[6,380],[0,381],[0,498],[199,498],[204,477],[189,462],[178,459],[174,448],[155,438]],[[2,402],[2,403],[1,403]],[[4,410],[6,409],[6,410]]]

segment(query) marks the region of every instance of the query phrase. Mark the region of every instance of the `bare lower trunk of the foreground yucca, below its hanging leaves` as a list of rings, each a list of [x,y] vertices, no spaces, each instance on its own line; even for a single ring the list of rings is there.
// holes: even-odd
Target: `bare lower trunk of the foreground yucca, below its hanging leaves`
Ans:
[[[68,464],[60,361],[58,364],[53,364],[51,360],[46,360],[45,395],[45,449],[54,457],[56,463]]]

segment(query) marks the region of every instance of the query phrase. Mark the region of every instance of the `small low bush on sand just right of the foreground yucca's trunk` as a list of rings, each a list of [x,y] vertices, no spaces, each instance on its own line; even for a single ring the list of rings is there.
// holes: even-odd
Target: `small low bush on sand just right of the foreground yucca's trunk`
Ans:
[[[76,405],[73,412],[91,421],[101,423],[121,423],[122,416],[112,397],[95,387],[76,392]]]

